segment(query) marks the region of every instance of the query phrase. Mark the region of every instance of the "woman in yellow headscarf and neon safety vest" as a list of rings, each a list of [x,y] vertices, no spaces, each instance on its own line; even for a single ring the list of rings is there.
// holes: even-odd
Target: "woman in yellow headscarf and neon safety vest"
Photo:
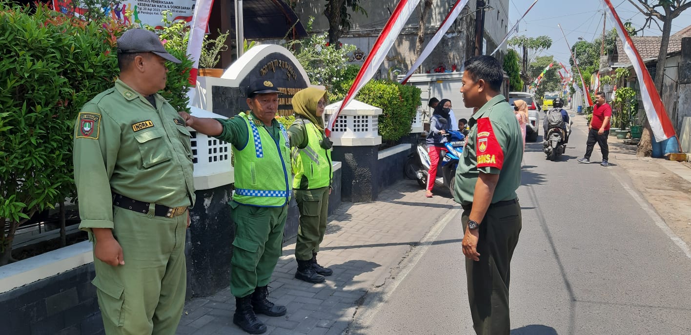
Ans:
[[[305,88],[293,97],[296,120],[288,128],[290,136],[293,191],[300,210],[295,259],[295,278],[307,283],[323,283],[333,271],[316,262],[319,243],[324,239],[333,172],[332,142],[324,133],[326,92]]]

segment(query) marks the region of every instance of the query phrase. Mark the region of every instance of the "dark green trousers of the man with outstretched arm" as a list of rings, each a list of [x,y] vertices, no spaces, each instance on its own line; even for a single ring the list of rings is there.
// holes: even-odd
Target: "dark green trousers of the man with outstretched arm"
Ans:
[[[271,274],[282,253],[288,205],[258,207],[231,201],[230,206],[236,224],[230,291],[242,298],[271,281]]]

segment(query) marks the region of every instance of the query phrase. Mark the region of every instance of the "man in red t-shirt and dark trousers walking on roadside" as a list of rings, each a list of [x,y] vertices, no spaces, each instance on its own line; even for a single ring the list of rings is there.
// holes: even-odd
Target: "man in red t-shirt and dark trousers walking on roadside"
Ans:
[[[600,165],[608,166],[607,159],[609,158],[609,146],[607,145],[607,136],[609,136],[609,119],[612,119],[612,107],[605,101],[605,92],[597,92],[595,94],[595,105],[593,106],[593,119],[588,125],[588,141],[585,149],[585,156],[578,159],[578,163],[590,163],[590,155],[593,153],[595,143],[600,145],[600,151],[603,153],[603,161]]]

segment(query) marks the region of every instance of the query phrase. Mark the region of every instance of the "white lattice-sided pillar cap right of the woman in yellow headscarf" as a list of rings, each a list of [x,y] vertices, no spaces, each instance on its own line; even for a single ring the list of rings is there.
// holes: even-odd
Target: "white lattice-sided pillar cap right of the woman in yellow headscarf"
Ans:
[[[341,101],[326,106],[325,120],[337,112]],[[353,100],[343,108],[331,130],[331,141],[334,145],[379,145],[379,115],[381,108]]]

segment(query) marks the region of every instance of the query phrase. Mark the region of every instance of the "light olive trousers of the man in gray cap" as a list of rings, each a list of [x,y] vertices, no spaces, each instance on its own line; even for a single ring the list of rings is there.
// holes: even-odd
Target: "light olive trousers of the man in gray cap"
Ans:
[[[94,259],[93,285],[106,334],[175,334],[187,287],[187,212],[169,219],[153,216],[153,208],[144,214],[114,207],[113,223],[125,264]]]

